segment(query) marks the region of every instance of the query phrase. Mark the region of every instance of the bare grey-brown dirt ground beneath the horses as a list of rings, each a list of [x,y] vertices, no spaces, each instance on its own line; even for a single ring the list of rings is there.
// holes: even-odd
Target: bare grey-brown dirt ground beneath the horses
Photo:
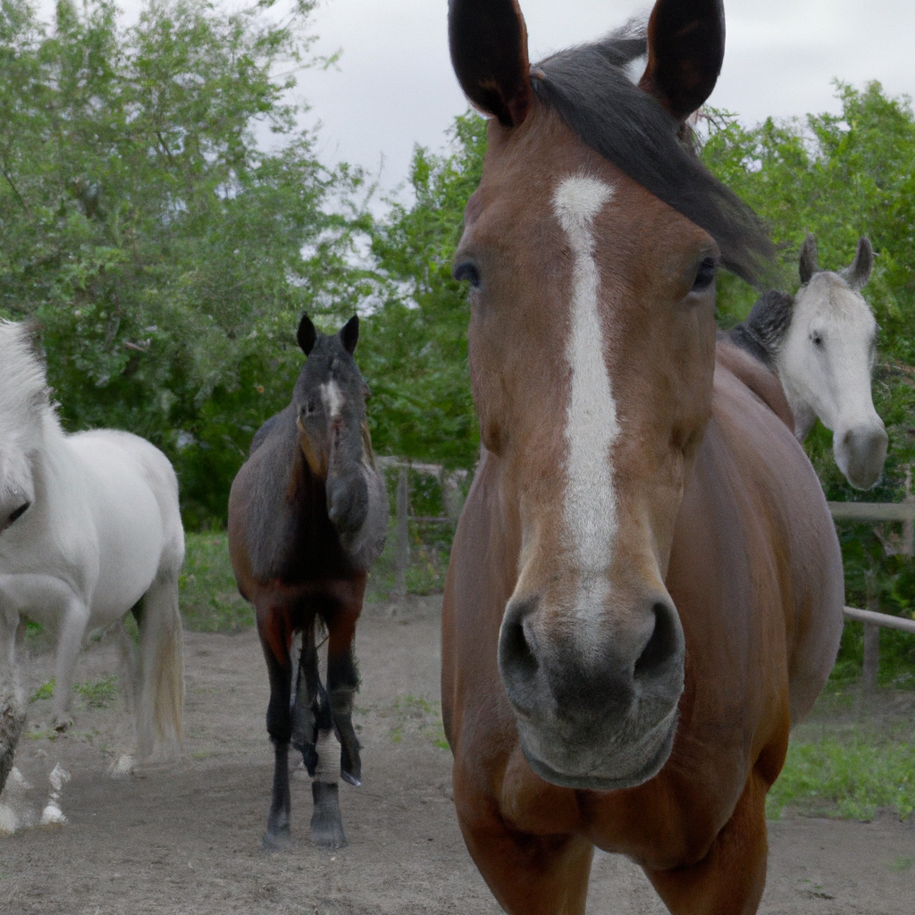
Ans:
[[[187,750],[182,767],[144,777],[107,774],[130,743],[119,701],[75,705],[63,737],[41,732],[47,699],[29,706],[30,736],[16,766],[31,787],[11,783],[6,815],[23,828],[0,837],[0,911],[9,915],[203,915],[461,913],[499,907],[458,832],[450,801],[451,759],[438,716],[440,598],[367,607],[357,636],[362,690],[357,724],[361,788],[341,785],[349,847],[310,844],[311,792],[293,779],[293,843],[261,848],[272,752],[264,730],[267,682],[253,631],[188,633]],[[52,659],[25,663],[29,694]],[[113,644],[81,655],[78,682],[117,669]],[[54,788],[67,823],[38,822]],[[770,871],[761,912],[895,915],[915,912],[915,816],[906,823],[787,819],[770,823]],[[638,867],[598,853],[588,912],[662,913]]]

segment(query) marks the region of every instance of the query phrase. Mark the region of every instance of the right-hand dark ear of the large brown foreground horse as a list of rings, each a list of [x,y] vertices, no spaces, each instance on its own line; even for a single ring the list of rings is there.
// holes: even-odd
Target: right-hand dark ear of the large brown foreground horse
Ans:
[[[682,124],[712,94],[724,58],[722,0],[657,0],[639,86]]]

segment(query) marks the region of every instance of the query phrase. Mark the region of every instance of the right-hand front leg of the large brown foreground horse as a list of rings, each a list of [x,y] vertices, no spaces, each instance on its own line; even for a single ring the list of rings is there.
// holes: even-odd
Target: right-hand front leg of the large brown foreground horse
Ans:
[[[753,915],[766,885],[766,791],[769,781],[752,770],[733,816],[708,854],[692,867],[651,870],[651,880],[673,915]]]

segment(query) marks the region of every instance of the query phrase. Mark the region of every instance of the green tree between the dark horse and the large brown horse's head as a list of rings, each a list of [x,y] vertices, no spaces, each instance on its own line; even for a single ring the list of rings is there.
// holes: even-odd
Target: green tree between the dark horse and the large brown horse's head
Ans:
[[[361,364],[380,451],[447,467],[472,467],[479,429],[467,361],[469,307],[451,262],[464,204],[479,184],[486,122],[458,117],[450,155],[417,147],[412,206],[395,203],[372,235],[380,303],[368,318]]]

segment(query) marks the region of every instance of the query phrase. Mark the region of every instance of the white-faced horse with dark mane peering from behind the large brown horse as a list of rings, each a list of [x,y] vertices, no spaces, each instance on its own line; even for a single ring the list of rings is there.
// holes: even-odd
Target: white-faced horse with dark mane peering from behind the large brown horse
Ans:
[[[768,292],[729,336],[774,371],[803,441],[819,416],[833,432],[835,463],[859,490],[883,471],[888,436],[874,409],[871,371],[877,359],[877,321],[861,290],[874,266],[866,237],[855,260],[834,273],[817,268],[816,240],[801,248],[801,288],[795,296]]]

